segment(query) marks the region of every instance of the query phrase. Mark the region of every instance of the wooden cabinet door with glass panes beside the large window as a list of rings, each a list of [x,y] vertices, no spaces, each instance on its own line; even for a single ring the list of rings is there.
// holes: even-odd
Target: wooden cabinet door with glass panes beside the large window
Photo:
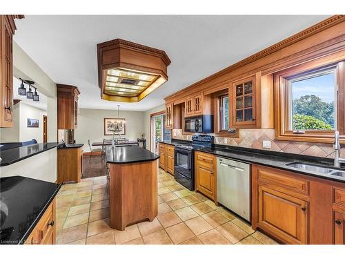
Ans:
[[[230,128],[256,128],[256,79],[248,77],[233,83],[229,96],[233,101],[230,108]]]

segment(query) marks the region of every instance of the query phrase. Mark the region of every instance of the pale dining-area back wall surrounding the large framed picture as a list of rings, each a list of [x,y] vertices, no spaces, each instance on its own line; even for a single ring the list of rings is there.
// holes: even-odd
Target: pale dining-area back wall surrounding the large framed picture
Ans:
[[[104,138],[104,118],[117,117],[116,110],[99,110],[80,108],[78,114],[78,128],[75,130],[75,142],[83,143],[83,151],[89,152],[88,140],[90,142],[103,142]],[[144,112],[142,111],[120,111],[119,117],[126,118],[126,137],[128,140],[137,140],[141,133],[145,133]],[[146,137],[147,135],[145,135]],[[101,148],[101,146],[99,146]]]

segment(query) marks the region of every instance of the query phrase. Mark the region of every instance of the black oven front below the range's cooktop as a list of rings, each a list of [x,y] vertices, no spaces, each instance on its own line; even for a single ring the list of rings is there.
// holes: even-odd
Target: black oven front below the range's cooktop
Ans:
[[[194,190],[194,151],[175,146],[175,180],[190,191]]]

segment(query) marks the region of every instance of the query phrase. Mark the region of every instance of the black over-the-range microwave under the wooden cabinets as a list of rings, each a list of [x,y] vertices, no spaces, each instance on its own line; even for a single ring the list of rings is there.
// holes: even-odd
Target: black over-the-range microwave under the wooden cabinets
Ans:
[[[199,115],[184,119],[184,131],[192,133],[213,133],[213,115]]]

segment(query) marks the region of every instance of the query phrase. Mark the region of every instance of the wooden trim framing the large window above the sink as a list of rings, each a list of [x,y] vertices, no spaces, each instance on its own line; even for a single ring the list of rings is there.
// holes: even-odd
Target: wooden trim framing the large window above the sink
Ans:
[[[274,75],[274,95],[275,95],[275,139],[297,142],[321,142],[333,143],[334,131],[305,131],[303,134],[296,134],[288,130],[288,97],[287,78],[335,66],[337,70],[337,130],[342,138],[341,143],[345,143],[345,61],[335,61],[332,55],[322,57],[279,71]]]

